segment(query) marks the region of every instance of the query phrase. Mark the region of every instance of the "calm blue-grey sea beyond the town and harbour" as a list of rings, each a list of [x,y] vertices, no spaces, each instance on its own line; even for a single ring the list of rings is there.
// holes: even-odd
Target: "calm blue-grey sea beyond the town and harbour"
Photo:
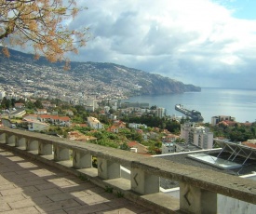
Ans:
[[[212,116],[230,115],[237,122],[256,121],[256,90],[255,89],[225,89],[206,88],[201,92],[186,92],[156,96],[131,97],[128,102],[147,102],[167,110],[168,115],[182,116],[174,109],[175,104],[182,104],[189,110],[197,110],[204,117],[204,122],[210,122]]]

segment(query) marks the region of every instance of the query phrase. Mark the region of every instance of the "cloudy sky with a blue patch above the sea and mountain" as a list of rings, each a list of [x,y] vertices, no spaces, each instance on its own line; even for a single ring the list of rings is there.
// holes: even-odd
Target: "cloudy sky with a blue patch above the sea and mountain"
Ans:
[[[71,60],[113,62],[199,87],[256,88],[255,0],[77,0],[87,47]]]

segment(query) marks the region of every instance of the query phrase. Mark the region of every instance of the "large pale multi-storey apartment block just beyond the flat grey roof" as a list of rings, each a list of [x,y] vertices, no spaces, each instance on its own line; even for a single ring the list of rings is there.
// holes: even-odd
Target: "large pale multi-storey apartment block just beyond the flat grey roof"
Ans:
[[[213,133],[209,127],[200,127],[195,123],[185,123],[181,126],[181,139],[186,143],[192,143],[203,149],[211,149],[213,144]]]

